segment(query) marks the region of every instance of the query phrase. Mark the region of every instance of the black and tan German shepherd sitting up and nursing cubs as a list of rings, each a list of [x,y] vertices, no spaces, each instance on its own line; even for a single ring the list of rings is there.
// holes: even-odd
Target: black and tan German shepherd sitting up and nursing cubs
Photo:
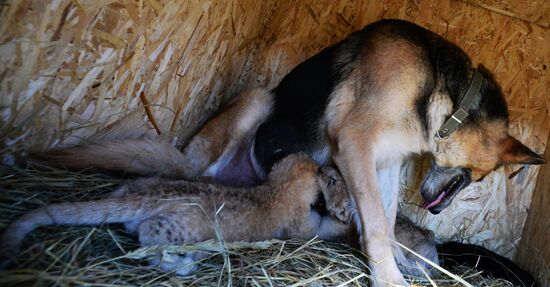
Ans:
[[[415,24],[382,20],[296,66],[271,91],[242,93],[182,151],[148,141],[92,144],[42,154],[72,167],[255,185],[273,164],[306,152],[334,164],[358,208],[373,283],[407,285],[392,249],[399,169],[431,153],[421,186],[436,214],[503,164],[544,159],[508,135],[508,111],[491,73],[456,45]]]

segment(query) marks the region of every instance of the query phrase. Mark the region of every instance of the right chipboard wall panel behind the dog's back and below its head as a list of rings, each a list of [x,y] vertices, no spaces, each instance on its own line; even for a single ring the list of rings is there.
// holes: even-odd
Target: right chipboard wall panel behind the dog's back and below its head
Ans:
[[[542,152],[549,130],[550,31],[533,23],[459,1],[286,1],[274,14],[251,80],[274,86],[296,64],[365,24],[381,18],[413,21],[457,43],[494,71],[509,103],[510,132]],[[513,256],[538,169],[508,180],[518,166],[501,168],[462,191],[438,216],[418,208],[423,169],[408,164],[403,208],[442,237],[457,237]]]

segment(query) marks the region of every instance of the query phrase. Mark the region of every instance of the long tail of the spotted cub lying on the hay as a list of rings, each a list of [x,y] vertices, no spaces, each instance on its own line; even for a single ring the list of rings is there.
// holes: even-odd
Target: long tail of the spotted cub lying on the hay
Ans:
[[[0,267],[15,257],[25,236],[40,226],[124,223],[143,218],[146,213],[138,199],[121,198],[57,203],[35,209],[4,230],[0,237]]]

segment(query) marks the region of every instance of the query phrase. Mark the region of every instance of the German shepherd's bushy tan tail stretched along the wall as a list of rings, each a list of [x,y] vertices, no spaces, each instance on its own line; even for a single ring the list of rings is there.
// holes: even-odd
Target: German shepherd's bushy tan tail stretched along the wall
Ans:
[[[118,140],[31,153],[31,159],[70,169],[94,168],[140,176],[184,178],[190,168],[175,147],[149,140]]]

